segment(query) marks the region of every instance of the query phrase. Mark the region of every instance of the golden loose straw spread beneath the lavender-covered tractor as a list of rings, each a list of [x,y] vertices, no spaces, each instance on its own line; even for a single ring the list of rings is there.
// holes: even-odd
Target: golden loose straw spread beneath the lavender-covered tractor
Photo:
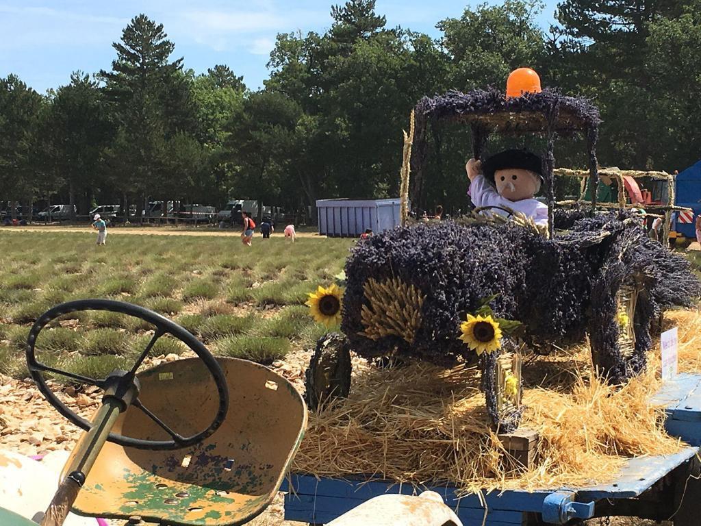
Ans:
[[[679,326],[680,372],[701,370],[699,312],[675,311],[666,323]],[[516,467],[486,425],[475,368],[355,365],[351,397],[310,414],[293,469],[414,485],[445,481],[463,492],[601,483],[626,457],[682,447],[665,433],[662,410],[648,405],[660,386],[658,353],[648,372],[618,391],[592,374],[588,346],[526,358],[522,427],[540,433],[529,471]]]

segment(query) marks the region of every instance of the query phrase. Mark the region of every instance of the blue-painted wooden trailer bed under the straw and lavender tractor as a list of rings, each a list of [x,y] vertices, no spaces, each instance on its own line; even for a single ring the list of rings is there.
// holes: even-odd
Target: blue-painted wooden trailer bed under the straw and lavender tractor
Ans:
[[[597,501],[632,499],[648,490],[675,468],[688,463],[701,445],[701,375],[680,375],[668,382],[652,400],[667,412],[667,430],[690,447],[666,457],[629,459],[610,483],[591,487],[559,487],[536,492],[491,492],[482,499],[475,494],[459,498],[449,484],[425,487],[440,493],[465,526],[523,526],[527,513],[542,513],[543,520],[564,524],[569,518],[590,518]],[[683,469],[681,467],[680,469]],[[415,494],[411,485],[365,478],[317,479],[292,474],[283,484],[285,519],[323,524],[362,502],[386,493]],[[486,503],[486,508],[484,504]],[[486,514],[486,515],[485,515]],[[486,520],[485,520],[486,519]]]

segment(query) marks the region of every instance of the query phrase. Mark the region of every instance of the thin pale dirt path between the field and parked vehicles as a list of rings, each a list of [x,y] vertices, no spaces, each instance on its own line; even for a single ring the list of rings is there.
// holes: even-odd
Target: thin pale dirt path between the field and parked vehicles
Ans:
[[[214,227],[111,227],[108,229],[109,236],[137,235],[137,236],[212,236],[212,237],[240,237],[240,230],[236,229],[217,229]],[[36,226],[36,227],[4,227],[0,232],[76,232],[81,234],[95,234],[90,227],[57,227],[53,225]],[[256,232],[255,238],[260,238],[260,233]],[[326,236],[320,236],[316,232],[306,231],[297,232],[298,238],[315,238],[326,239]],[[283,233],[275,232],[271,238],[283,239]]]

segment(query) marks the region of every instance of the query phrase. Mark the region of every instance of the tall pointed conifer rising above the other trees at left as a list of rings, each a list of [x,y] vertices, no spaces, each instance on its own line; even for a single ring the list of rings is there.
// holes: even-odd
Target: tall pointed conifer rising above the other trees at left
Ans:
[[[163,25],[138,15],[113,44],[111,72],[100,72],[119,129],[107,160],[125,210],[129,195],[145,198],[172,181],[162,164],[165,145],[178,133],[195,131],[191,74],[182,72],[182,58],[170,61],[175,44],[167,36]]]

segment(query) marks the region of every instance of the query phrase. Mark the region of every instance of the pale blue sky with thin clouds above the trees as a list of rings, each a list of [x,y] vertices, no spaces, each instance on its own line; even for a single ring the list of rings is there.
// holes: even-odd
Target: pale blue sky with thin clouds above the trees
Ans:
[[[344,0],[0,0],[0,77],[16,74],[39,93],[69,82],[71,72],[111,69],[112,43],[139,13],[163,24],[173,59],[196,73],[226,64],[251,89],[268,77],[278,33],[325,32],[333,4]],[[439,36],[435,24],[479,1],[377,0],[388,27]],[[489,4],[500,4],[489,1]],[[553,21],[557,0],[544,0],[538,23]]]

